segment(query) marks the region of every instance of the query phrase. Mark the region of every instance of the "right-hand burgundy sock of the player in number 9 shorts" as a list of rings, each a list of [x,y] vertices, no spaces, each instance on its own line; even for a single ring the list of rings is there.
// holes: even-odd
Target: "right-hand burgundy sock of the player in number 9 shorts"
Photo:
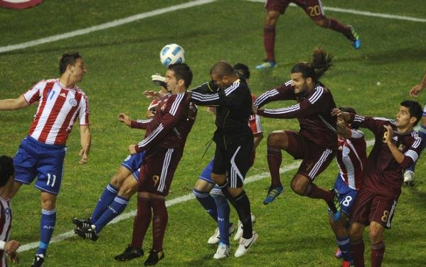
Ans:
[[[152,248],[163,251],[163,239],[166,232],[167,219],[169,218],[164,199],[151,199],[152,216]]]

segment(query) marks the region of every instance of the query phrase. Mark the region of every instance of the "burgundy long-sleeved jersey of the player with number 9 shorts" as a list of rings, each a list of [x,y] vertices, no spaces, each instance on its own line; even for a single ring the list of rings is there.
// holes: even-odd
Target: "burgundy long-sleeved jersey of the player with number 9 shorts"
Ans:
[[[183,150],[186,137],[196,120],[196,105],[190,102],[188,92],[164,96],[149,120],[132,121],[132,127],[146,129],[144,140],[136,147],[137,152],[150,147]]]

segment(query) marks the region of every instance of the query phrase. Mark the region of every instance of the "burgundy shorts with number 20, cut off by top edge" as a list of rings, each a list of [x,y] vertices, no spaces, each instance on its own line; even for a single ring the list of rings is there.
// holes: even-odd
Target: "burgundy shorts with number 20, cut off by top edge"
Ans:
[[[267,0],[265,9],[267,11],[278,11],[284,14],[285,9],[287,9],[290,3],[300,6],[309,18],[314,21],[324,19],[324,9],[321,0]]]

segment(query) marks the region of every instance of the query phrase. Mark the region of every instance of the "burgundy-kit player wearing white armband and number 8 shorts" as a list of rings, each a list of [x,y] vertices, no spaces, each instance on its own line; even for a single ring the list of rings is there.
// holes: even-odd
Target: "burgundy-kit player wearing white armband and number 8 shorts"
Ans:
[[[422,106],[412,100],[403,101],[395,120],[364,117],[338,109],[333,114],[352,127],[366,127],[375,135],[374,147],[363,171],[363,184],[353,204],[348,232],[355,266],[363,267],[363,231],[369,226],[371,267],[378,267],[385,254],[383,234],[385,229],[390,229],[401,194],[403,169],[417,161],[422,148],[422,139],[413,130],[422,117]]]

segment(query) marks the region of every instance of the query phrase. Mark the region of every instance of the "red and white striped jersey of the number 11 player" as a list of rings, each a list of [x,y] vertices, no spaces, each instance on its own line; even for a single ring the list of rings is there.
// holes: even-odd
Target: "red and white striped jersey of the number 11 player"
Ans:
[[[28,135],[40,142],[65,145],[77,117],[80,125],[89,125],[89,102],[78,86],[65,88],[59,79],[41,80],[23,98],[30,105],[38,101]]]

